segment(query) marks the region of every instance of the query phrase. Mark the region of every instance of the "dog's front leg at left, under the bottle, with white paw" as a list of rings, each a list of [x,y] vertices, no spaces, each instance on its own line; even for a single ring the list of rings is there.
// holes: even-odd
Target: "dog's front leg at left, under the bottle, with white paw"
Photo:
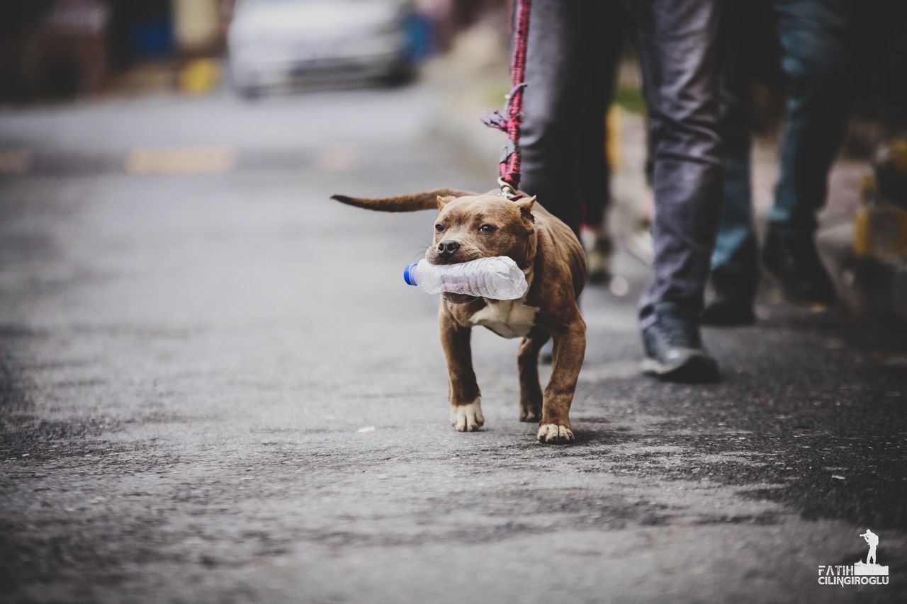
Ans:
[[[485,423],[482,397],[473,371],[473,351],[470,329],[458,325],[444,309],[438,316],[441,346],[447,359],[447,378],[450,383],[451,425],[460,432],[475,432]]]

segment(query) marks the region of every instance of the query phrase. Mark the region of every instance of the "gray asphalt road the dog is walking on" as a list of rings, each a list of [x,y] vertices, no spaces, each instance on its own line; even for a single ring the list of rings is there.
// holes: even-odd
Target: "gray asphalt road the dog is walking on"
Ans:
[[[629,295],[584,295],[577,443],[517,421],[490,332],[485,428],[451,429],[437,300],[401,279],[431,215],[327,200],[490,188],[439,106],[0,112],[0,600],[907,599],[902,327],[764,305],[707,331],[721,383],[658,383],[621,255]],[[820,586],[867,528],[890,584]]]

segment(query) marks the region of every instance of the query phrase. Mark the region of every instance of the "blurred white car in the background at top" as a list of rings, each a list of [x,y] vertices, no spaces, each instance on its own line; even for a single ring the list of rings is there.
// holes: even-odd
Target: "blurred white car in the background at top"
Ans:
[[[409,0],[237,0],[233,85],[254,96],[307,78],[405,81],[413,17]]]

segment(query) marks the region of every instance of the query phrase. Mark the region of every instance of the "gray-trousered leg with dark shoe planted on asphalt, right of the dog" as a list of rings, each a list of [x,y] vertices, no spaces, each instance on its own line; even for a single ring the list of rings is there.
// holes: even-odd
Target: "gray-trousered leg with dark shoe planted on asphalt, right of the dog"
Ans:
[[[654,161],[655,275],[640,320],[654,373],[717,376],[698,314],[715,244],[723,156],[718,137],[718,0],[635,3]]]

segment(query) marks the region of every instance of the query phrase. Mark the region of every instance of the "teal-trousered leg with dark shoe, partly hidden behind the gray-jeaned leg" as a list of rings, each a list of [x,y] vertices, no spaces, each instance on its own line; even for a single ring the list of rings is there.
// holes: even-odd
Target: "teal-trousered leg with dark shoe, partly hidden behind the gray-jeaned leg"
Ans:
[[[725,183],[721,218],[711,259],[715,296],[708,301],[702,321],[709,325],[740,325],[755,320],[759,265],[753,223],[750,148],[752,102],[750,70],[746,61],[746,26],[751,5],[724,0],[721,5],[719,75],[719,128],[725,150]]]

